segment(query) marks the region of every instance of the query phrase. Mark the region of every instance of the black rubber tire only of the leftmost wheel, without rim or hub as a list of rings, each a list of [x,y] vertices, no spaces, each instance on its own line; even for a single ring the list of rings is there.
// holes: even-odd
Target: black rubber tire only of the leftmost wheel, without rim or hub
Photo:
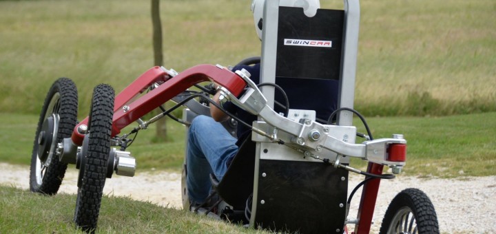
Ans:
[[[60,121],[56,139],[57,142],[61,142],[63,138],[70,137],[77,122],[78,93],[76,85],[72,82],[72,80],[70,80],[70,78],[59,78],[52,84],[52,87],[50,87],[50,91],[45,98],[38,122],[36,136],[34,137],[34,147],[30,167],[30,191],[34,193],[43,193],[46,195],[56,194],[57,191],[59,191],[65,175],[65,170],[68,167],[66,163],[60,162],[58,157],[52,157],[50,166],[47,171],[45,171],[45,175],[43,176],[43,182],[41,182],[40,185],[37,184],[36,160],[38,151],[38,135],[39,131],[41,131],[43,121],[45,121],[44,117],[45,113],[48,111],[47,108],[50,100],[52,100],[52,96],[57,92],[61,95],[59,109]]]

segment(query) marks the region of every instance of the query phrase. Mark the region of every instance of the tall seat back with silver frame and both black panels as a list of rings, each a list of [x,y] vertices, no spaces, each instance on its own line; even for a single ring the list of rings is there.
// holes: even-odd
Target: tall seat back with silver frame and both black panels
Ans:
[[[315,110],[323,120],[336,108],[353,108],[358,0],[344,0],[344,10],[320,9],[313,17],[301,8],[279,7],[278,2],[265,3],[260,82],[282,86],[291,108]],[[262,92],[273,107],[278,99],[274,89],[263,87]],[[351,112],[342,111],[338,125],[352,125]],[[254,140],[259,142],[251,226],[342,232],[348,172],[313,162],[289,147]],[[346,158],[342,162],[348,163]]]

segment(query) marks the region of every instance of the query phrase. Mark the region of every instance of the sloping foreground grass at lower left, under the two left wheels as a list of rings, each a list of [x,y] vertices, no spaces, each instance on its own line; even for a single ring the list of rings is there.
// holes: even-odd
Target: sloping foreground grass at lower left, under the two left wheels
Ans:
[[[83,233],[72,221],[76,195],[0,187],[0,233]],[[124,225],[123,225],[124,224]],[[103,196],[96,233],[265,233],[150,202]]]

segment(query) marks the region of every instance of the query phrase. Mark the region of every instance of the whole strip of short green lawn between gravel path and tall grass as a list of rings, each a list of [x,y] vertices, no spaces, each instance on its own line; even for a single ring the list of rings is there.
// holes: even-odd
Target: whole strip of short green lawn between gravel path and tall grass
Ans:
[[[374,138],[404,134],[408,141],[406,175],[456,177],[496,175],[496,112],[444,117],[366,118]],[[0,162],[28,167],[37,116],[0,114]],[[184,158],[184,126],[167,122],[169,140],[154,140],[154,125],[139,132],[128,148],[136,157],[138,170],[180,171]],[[364,132],[359,119],[355,126]],[[132,125],[134,127],[134,125]],[[125,133],[127,131],[123,131]],[[358,138],[357,142],[360,142]],[[364,168],[362,160],[354,167]],[[463,171],[463,173],[460,173]]]

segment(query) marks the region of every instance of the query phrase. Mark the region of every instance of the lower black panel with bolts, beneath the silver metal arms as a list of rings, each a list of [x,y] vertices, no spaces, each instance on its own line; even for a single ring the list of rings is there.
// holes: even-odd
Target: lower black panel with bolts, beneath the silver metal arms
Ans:
[[[290,233],[342,233],[347,189],[348,171],[328,164],[260,160],[255,226]]]

